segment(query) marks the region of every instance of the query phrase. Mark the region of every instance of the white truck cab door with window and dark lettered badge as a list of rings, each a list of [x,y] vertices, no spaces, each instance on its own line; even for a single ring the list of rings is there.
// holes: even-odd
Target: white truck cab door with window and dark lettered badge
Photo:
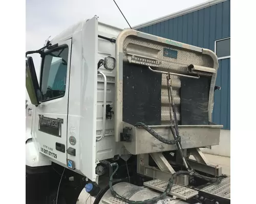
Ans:
[[[36,107],[34,130],[40,152],[65,165],[71,42],[68,39],[58,43],[42,55],[39,85],[42,98]]]

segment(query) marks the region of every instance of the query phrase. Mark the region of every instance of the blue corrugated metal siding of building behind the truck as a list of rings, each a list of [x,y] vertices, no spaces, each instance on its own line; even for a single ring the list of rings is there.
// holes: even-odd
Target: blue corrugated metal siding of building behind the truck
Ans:
[[[230,37],[230,0],[139,31],[215,51],[215,40]],[[230,130],[230,58],[219,60],[216,86],[212,120]]]

